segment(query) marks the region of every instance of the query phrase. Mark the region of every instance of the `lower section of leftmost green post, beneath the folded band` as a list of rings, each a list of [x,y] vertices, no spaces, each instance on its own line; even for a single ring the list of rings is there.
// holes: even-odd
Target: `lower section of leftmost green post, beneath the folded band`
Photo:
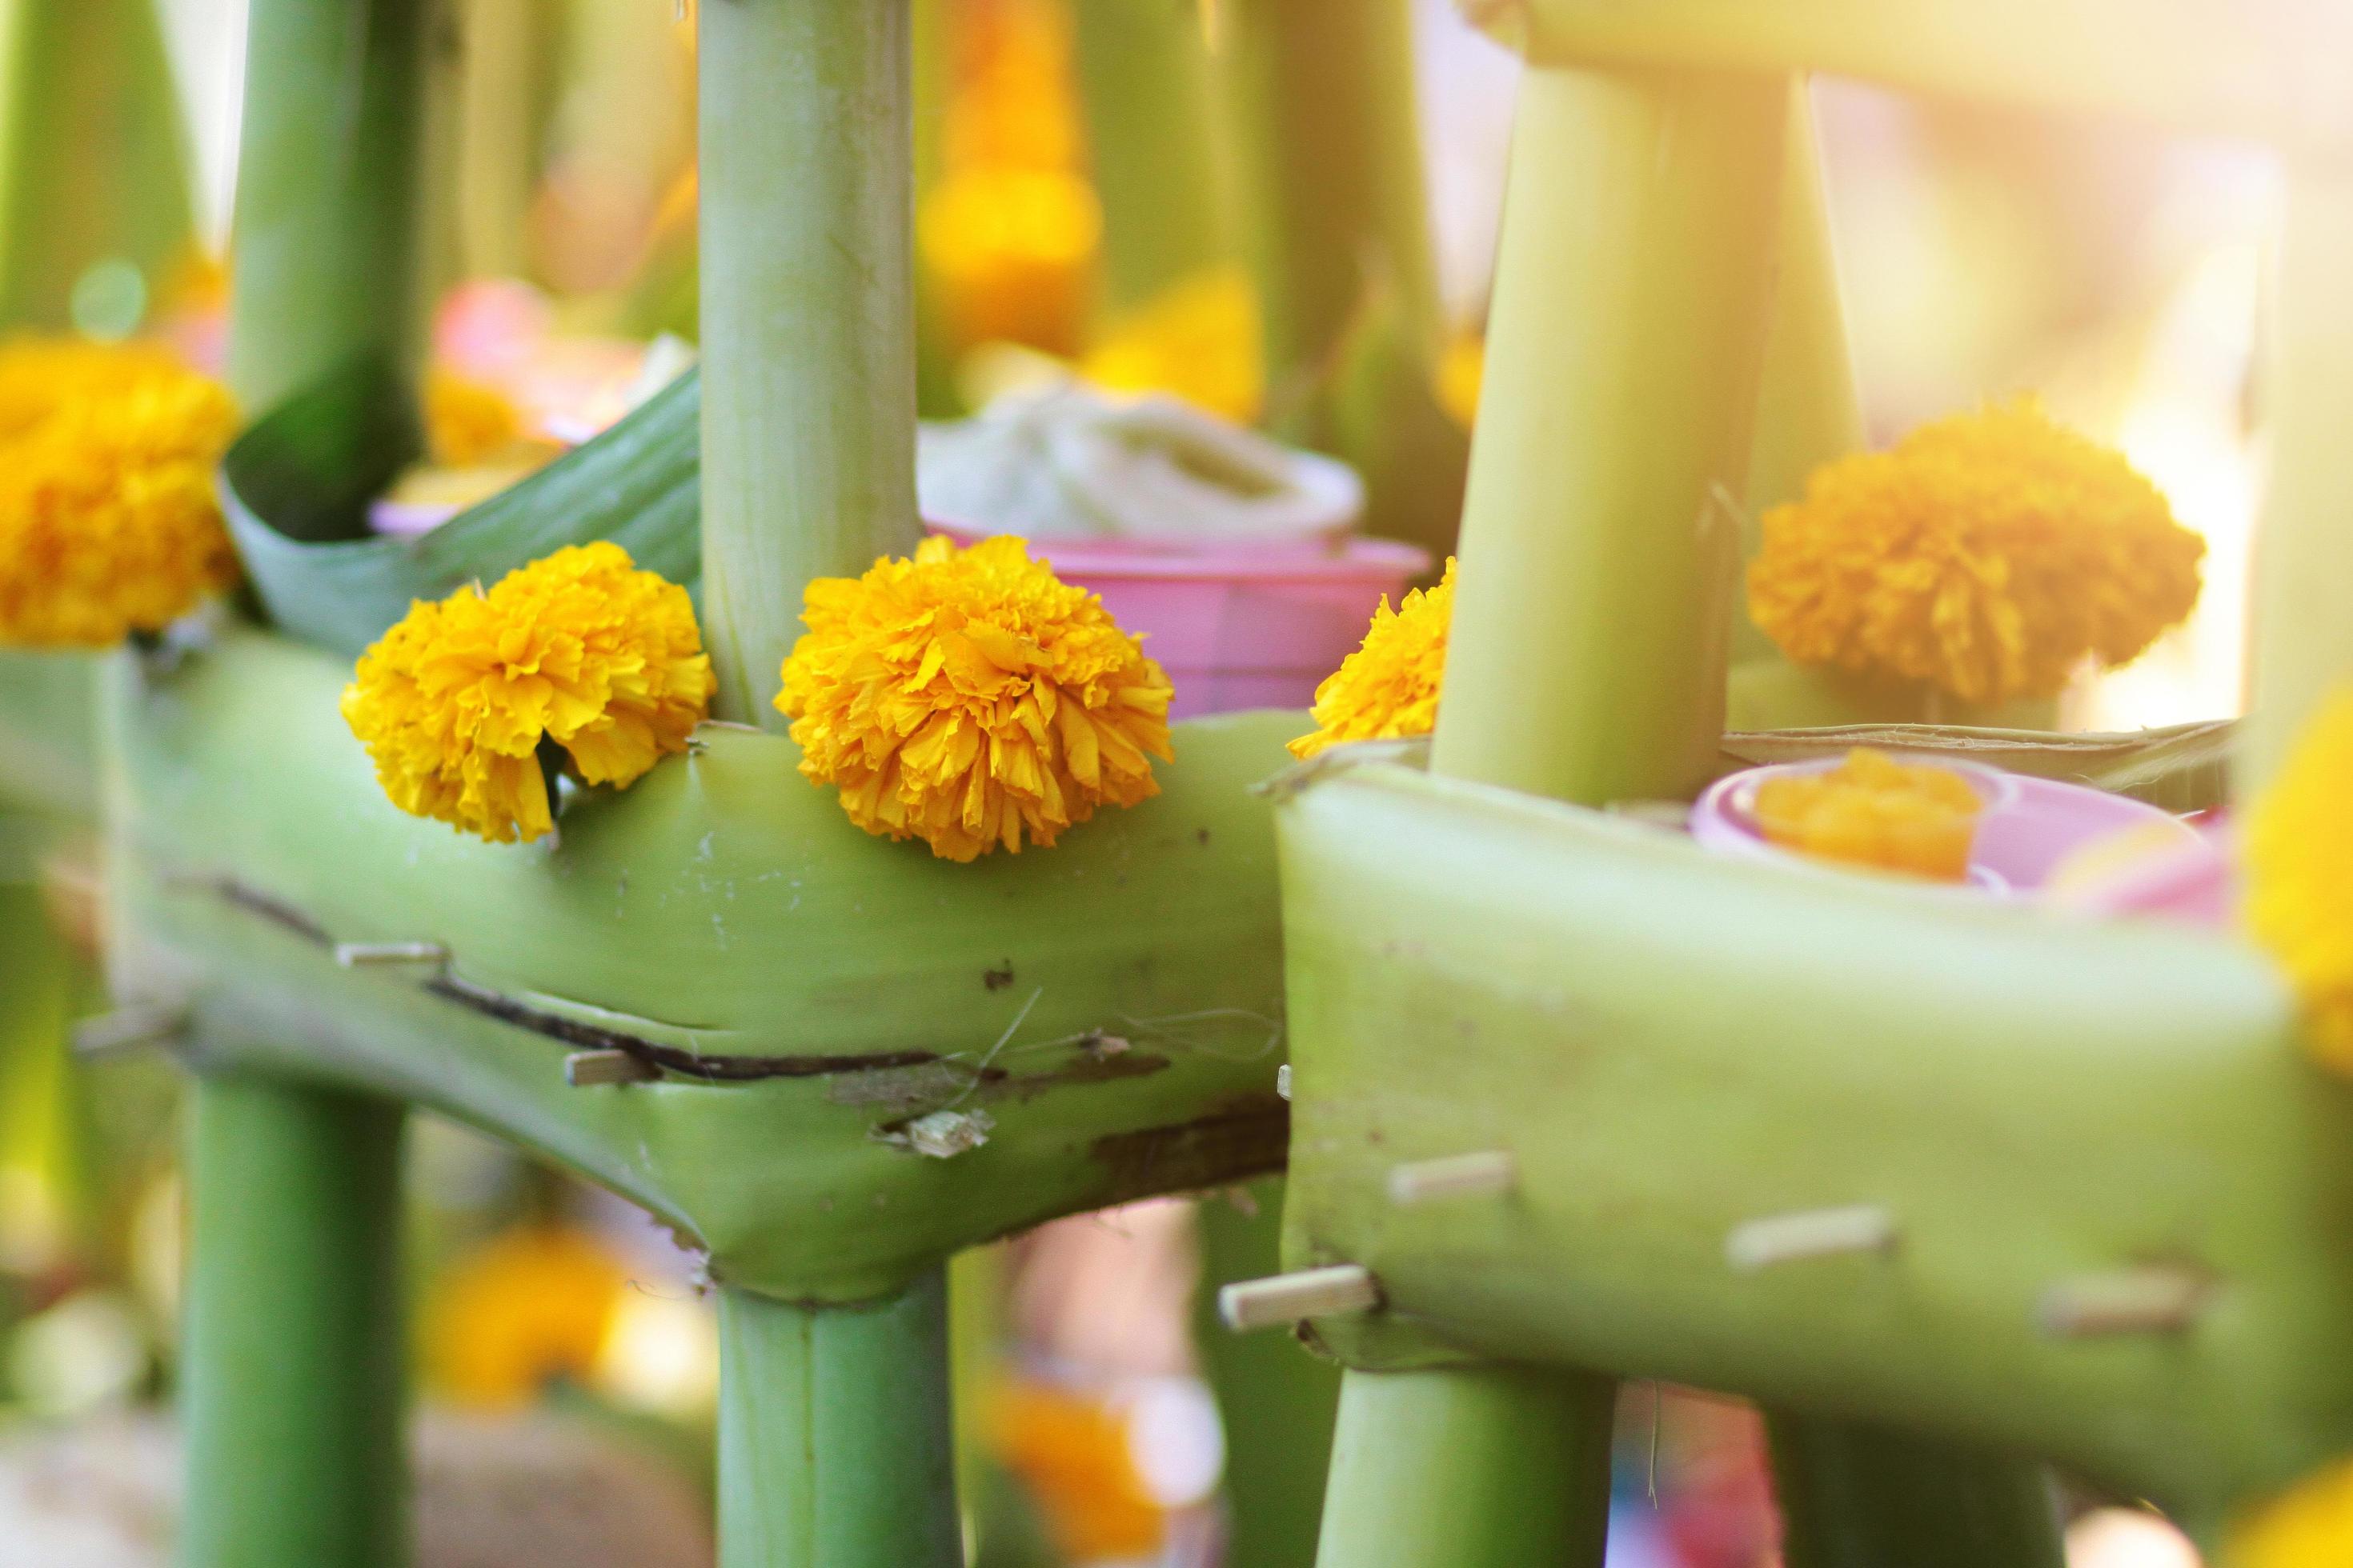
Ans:
[[[400,1126],[259,1077],[195,1091],[181,1568],[395,1568]]]

